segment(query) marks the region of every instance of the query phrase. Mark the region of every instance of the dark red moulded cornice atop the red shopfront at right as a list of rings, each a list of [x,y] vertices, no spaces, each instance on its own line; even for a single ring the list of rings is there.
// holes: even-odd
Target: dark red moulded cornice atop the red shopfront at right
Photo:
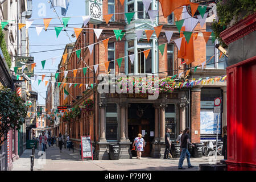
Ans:
[[[230,43],[241,39],[256,29],[256,13],[251,14],[246,19],[241,20],[234,26],[221,32],[220,37],[229,45]]]

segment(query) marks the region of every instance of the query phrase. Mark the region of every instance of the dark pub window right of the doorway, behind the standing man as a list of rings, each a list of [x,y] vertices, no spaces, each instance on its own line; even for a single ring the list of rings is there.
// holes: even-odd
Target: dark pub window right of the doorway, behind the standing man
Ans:
[[[166,129],[170,129],[170,138],[175,139],[176,129],[175,129],[175,105],[168,104],[166,107]]]

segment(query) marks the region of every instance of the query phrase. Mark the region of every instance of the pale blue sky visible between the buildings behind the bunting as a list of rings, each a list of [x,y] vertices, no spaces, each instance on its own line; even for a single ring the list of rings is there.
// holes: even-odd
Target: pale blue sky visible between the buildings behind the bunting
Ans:
[[[30,19],[36,19],[36,18],[56,18],[57,15],[55,12],[53,12],[53,9],[50,9],[50,3],[48,3],[48,0],[36,0],[32,1],[32,17]],[[44,6],[45,9],[45,15],[44,14]],[[62,18],[61,15],[61,8],[55,7],[57,14]],[[43,13],[42,13],[43,12]],[[85,0],[71,0],[71,3],[68,7],[68,11],[66,16],[84,16],[85,15]],[[72,23],[80,23],[77,25],[70,25],[68,27],[81,27],[82,26],[82,18],[76,17],[71,18],[68,22],[68,24]],[[43,25],[43,19],[36,19],[32,23],[33,24],[42,24]],[[50,77],[47,77],[50,75],[51,72],[56,72],[57,66],[60,63],[61,55],[63,54],[65,44],[71,43],[69,40],[67,34],[64,31],[61,31],[58,38],[56,37],[56,32],[54,30],[54,27],[51,27],[51,24],[60,24],[59,19],[52,19],[51,23],[49,24],[48,29],[53,30],[47,30],[44,29],[38,36],[36,33],[35,28],[28,28],[28,36],[29,36],[29,44],[30,44],[30,55],[34,57],[36,67],[35,67],[35,75],[44,75],[46,74],[46,77],[44,80],[49,80]],[[60,27],[60,25],[58,25]],[[73,29],[67,28],[67,31],[69,37],[71,38],[72,42],[76,41],[76,38],[72,38]],[[35,46],[40,45],[40,46]],[[59,46],[45,46],[45,45],[59,45]],[[47,51],[52,49],[61,49],[59,51],[49,51],[49,52],[40,52],[40,53],[32,53],[32,52],[38,52],[38,51]],[[52,65],[51,57],[57,57],[55,64]],[[44,66],[44,69],[42,69],[42,63],[41,61],[46,60],[46,64]],[[45,82],[41,82],[40,85],[38,85],[38,80],[41,80],[41,76],[38,76],[37,80],[32,84],[32,90],[38,92],[38,104],[45,104],[46,101],[43,99],[43,97],[46,97],[46,90],[47,87],[45,86]],[[48,85],[47,85],[48,86]],[[42,96],[40,96],[42,95]]]

